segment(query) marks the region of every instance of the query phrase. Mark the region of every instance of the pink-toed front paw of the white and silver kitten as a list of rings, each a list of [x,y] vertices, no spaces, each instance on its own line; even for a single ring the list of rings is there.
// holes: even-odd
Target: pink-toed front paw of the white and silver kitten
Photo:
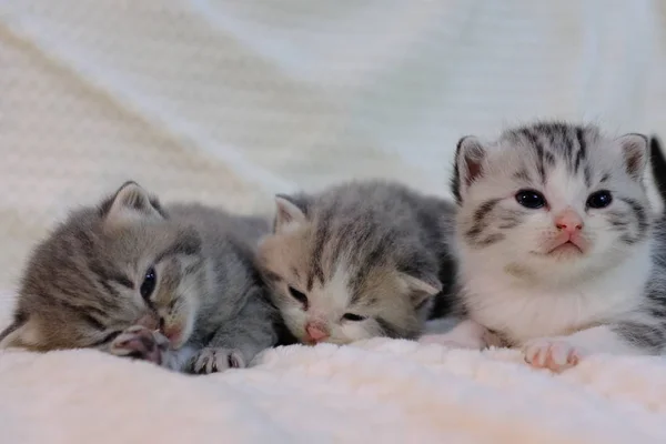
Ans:
[[[585,355],[585,351],[566,339],[538,339],[528,342],[523,347],[525,362],[535,369],[548,369],[553,372],[562,372],[573,367]]]

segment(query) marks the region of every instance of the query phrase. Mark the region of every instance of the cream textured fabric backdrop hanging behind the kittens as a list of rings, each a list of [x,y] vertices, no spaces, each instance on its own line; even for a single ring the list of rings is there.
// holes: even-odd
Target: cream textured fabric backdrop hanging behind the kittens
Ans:
[[[0,0],[0,289],[127,179],[243,212],[533,117],[666,118],[666,2]]]

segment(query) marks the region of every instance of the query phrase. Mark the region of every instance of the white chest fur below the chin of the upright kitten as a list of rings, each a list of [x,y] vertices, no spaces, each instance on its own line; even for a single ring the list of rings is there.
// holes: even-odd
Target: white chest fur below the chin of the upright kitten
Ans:
[[[472,253],[461,266],[473,319],[491,330],[505,331],[518,343],[559,336],[574,330],[627,320],[643,301],[652,261],[645,243],[620,265],[571,286],[517,285],[501,268],[483,273]]]

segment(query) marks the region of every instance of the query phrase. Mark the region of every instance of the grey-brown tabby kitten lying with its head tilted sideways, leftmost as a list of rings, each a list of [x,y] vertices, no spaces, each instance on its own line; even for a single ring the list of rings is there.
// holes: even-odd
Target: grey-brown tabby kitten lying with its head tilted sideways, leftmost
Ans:
[[[128,182],[34,250],[0,346],[91,347],[192,373],[242,367],[275,344],[253,264],[268,221],[160,205]]]

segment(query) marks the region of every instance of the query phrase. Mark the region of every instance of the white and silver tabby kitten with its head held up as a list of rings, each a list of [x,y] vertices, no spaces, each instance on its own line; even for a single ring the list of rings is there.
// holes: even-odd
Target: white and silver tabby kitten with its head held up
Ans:
[[[663,353],[666,231],[647,199],[647,162],[645,137],[593,125],[463,138],[452,189],[466,320],[424,342],[501,339],[553,371],[593,352]]]

